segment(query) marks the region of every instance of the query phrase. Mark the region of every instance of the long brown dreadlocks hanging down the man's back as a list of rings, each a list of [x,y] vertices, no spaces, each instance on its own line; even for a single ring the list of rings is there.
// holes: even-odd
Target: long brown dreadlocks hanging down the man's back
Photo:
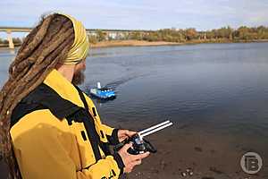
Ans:
[[[63,62],[73,42],[71,20],[59,13],[46,15],[29,32],[9,67],[9,79],[0,91],[0,159],[9,166],[9,178],[21,178],[9,132],[13,109]]]

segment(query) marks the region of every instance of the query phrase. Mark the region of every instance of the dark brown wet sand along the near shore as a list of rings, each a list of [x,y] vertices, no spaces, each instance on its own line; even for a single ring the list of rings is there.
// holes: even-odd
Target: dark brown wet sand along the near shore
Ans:
[[[124,127],[130,126],[125,124]],[[132,124],[133,126],[133,124]],[[141,127],[141,126],[140,126]],[[135,130],[135,129],[134,129]],[[235,136],[233,136],[235,137]],[[156,154],[142,161],[129,175],[121,178],[154,179],[266,179],[268,178],[267,143],[260,153],[264,166],[256,175],[248,175],[240,166],[240,158],[251,148],[248,142],[256,146],[251,139],[232,139],[232,136],[216,136],[185,126],[173,126],[147,139],[157,148]],[[253,147],[254,148],[254,147]],[[189,170],[189,171],[188,171]],[[183,173],[187,173],[183,176]],[[191,174],[189,174],[192,172]]]

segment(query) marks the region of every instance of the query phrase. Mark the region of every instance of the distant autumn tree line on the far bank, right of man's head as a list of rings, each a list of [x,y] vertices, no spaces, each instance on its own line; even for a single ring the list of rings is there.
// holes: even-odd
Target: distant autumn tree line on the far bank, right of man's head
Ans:
[[[228,42],[228,41],[252,41],[268,39],[268,27],[259,26],[249,28],[241,26],[239,29],[232,29],[230,26],[222,27],[217,30],[197,31],[194,28],[186,30],[181,29],[163,29],[152,30],[149,32],[134,31],[123,33],[117,37],[109,37],[102,30],[97,30],[96,34],[89,35],[89,41],[96,43],[98,41],[113,40],[113,39],[135,39],[147,41],[167,41],[167,42]]]

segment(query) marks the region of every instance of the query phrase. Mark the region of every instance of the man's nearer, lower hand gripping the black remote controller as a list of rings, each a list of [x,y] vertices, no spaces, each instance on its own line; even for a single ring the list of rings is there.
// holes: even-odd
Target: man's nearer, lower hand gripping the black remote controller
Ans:
[[[128,149],[132,146],[132,143],[125,144],[119,151],[118,154],[121,156],[121,159],[125,165],[124,173],[130,173],[134,166],[141,164],[141,159],[147,158],[149,156],[149,152],[131,155],[128,153]]]

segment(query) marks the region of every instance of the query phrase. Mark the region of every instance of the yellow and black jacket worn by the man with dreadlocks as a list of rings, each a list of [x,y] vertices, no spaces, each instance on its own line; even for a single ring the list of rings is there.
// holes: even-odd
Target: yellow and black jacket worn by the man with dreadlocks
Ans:
[[[13,150],[25,179],[116,179],[124,167],[92,100],[53,70],[13,110]]]

